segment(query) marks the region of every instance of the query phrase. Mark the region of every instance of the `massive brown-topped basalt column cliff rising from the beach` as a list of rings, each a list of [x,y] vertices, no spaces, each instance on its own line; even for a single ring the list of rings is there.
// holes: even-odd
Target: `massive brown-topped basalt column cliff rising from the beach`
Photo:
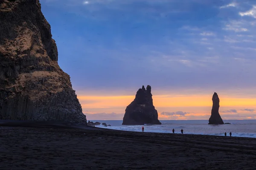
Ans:
[[[0,119],[87,124],[38,0],[0,0]]]

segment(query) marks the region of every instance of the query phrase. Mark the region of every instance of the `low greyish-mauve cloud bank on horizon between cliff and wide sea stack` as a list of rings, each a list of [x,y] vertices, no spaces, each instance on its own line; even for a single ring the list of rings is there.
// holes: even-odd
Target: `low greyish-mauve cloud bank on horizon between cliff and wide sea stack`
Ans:
[[[122,120],[124,113],[84,113],[87,120]]]

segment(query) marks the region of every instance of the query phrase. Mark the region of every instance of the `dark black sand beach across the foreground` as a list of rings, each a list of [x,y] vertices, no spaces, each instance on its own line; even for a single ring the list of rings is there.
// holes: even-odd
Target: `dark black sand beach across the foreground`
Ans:
[[[0,122],[1,170],[254,170],[256,166],[254,138],[24,125]]]

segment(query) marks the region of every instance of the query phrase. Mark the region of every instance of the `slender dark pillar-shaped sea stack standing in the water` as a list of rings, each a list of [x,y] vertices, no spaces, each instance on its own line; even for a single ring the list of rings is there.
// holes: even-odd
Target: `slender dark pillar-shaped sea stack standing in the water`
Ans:
[[[219,108],[220,108],[220,99],[218,98],[218,94],[214,92],[212,96],[212,114],[209,119],[208,125],[224,124],[223,120],[221,119],[221,115],[218,112]]]

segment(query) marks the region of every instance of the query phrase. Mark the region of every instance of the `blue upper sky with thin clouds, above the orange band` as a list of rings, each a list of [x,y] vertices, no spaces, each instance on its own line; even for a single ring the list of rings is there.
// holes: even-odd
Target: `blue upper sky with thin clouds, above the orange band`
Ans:
[[[142,84],[157,89],[253,88],[254,4],[41,0],[58,45],[59,65],[77,90]]]

